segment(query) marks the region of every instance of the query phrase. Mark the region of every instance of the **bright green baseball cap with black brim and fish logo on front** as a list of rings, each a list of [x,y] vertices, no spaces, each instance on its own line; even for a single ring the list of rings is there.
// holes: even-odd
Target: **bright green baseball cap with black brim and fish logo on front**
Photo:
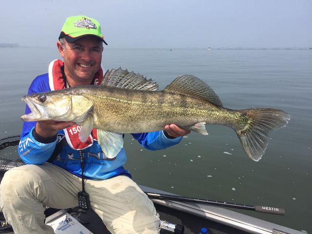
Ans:
[[[101,33],[101,25],[98,20],[87,16],[68,17],[62,27],[59,39],[65,38],[68,43],[72,43],[86,36],[98,37],[107,45]]]

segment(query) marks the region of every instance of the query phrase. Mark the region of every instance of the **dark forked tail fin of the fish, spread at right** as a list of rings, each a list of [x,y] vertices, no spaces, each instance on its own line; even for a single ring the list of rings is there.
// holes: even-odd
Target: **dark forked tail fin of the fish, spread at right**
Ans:
[[[290,115],[277,109],[240,110],[247,117],[247,123],[236,134],[246,152],[254,161],[259,161],[268,145],[268,135],[273,129],[285,127]]]

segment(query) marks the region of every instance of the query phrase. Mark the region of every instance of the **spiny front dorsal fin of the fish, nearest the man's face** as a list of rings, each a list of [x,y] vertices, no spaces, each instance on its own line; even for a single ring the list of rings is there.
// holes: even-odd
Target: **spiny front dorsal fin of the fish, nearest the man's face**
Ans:
[[[147,80],[140,74],[128,72],[128,70],[122,70],[121,67],[119,67],[117,70],[107,70],[101,85],[114,86],[123,89],[138,89],[150,91],[158,90],[158,84],[156,82],[153,82],[152,79]]]

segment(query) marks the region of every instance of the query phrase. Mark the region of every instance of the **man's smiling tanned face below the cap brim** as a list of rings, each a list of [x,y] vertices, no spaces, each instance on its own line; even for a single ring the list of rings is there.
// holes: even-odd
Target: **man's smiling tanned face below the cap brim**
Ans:
[[[70,86],[88,85],[101,66],[103,44],[93,36],[65,42],[65,48],[58,42],[59,53],[64,59],[64,72]]]

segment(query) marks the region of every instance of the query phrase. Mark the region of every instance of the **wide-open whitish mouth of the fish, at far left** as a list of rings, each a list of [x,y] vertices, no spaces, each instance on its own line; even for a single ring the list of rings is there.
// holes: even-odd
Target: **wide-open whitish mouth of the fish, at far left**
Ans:
[[[26,102],[29,109],[31,110],[31,113],[29,113],[28,115],[23,115],[22,117],[20,117],[23,121],[38,121],[47,119],[45,117],[45,108],[42,105],[34,102],[30,98],[27,98],[27,96],[24,96],[22,100]]]

